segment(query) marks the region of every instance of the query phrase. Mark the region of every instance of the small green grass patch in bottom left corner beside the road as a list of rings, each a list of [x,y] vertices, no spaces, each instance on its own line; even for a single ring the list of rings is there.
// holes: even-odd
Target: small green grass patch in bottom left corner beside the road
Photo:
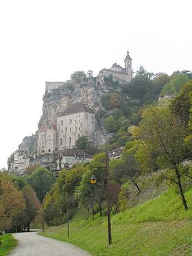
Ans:
[[[0,255],[8,255],[10,251],[16,246],[16,240],[12,237],[11,234],[5,234],[0,236]]]

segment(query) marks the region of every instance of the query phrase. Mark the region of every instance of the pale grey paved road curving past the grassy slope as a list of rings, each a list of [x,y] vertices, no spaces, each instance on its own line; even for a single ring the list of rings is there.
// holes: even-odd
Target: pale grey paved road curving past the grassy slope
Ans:
[[[91,256],[72,244],[37,235],[36,232],[15,233],[13,236],[19,245],[10,256]]]

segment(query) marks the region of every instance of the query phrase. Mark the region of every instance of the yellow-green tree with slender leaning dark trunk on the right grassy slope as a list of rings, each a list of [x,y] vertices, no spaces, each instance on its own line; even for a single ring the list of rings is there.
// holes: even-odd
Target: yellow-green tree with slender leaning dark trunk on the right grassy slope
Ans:
[[[146,159],[155,161],[159,170],[170,170],[172,176],[163,178],[176,184],[184,209],[188,209],[181,183],[181,163],[189,150],[185,144],[185,137],[189,130],[182,120],[171,113],[169,106],[147,108],[139,124],[141,163]]]

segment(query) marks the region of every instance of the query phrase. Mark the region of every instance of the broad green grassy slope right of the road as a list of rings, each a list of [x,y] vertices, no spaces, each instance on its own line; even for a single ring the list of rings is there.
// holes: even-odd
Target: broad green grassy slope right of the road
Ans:
[[[70,223],[48,228],[44,234],[67,241],[92,255],[192,255],[192,189],[185,193],[189,210],[180,197],[166,191],[125,213],[112,216],[112,245],[108,246],[106,217],[96,220],[76,218]]]

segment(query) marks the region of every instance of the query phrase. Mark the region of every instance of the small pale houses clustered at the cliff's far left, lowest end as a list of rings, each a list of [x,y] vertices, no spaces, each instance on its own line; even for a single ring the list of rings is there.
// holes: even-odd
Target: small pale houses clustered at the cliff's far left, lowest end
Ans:
[[[25,174],[25,169],[29,167],[29,155],[26,151],[16,150],[14,152],[14,161],[11,163],[9,172]]]

